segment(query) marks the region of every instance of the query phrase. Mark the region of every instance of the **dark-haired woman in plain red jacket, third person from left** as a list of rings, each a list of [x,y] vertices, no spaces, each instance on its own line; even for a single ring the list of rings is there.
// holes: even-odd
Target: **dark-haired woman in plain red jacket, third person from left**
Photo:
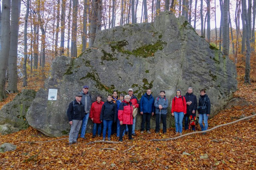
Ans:
[[[102,105],[104,104],[104,102],[101,101],[101,98],[102,97],[100,95],[97,95],[96,102],[93,102],[91,106],[89,117],[93,122],[92,138],[95,137],[97,128],[98,128],[98,137],[100,136],[100,133],[101,133],[100,113],[101,113]]]

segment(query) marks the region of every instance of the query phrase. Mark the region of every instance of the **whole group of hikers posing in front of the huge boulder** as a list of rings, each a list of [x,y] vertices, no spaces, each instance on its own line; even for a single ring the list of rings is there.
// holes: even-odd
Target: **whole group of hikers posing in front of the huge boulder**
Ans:
[[[133,89],[128,89],[128,95],[120,94],[114,91],[112,95],[107,96],[107,101],[102,101],[102,96],[97,95],[96,101],[92,103],[92,96],[89,94],[89,87],[83,86],[81,92],[75,95],[75,100],[69,103],[67,116],[71,125],[69,133],[69,145],[77,142],[78,133],[81,128],[80,137],[85,139],[85,132],[88,119],[93,122],[92,138],[101,135],[103,124],[103,140],[111,140],[111,134],[116,131],[119,141],[123,141],[123,136],[128,134],[128,138],[133,140],[132,136],[136,136],[135,122],[138,108],[142,115],[141,133],[150,132],[150,119],[156,115],[155,132],[160,131],[160,121],[163,123],[163,133],[166,133],[166,117],[168,108],[168,99],[165,91],[161,90],[159,96],[154,99],[151,89],[147,89],[146,93],[141,97],[140,103],[138,98],[133,94]],[[175,97],[172,99],[171,115],[175,119],[176,135],[182,135],[182,122],[185,117],[185,130],[191,128],[195,131],[195,125],[190,124],[191,120],[196,119],[196,110],[199,113],[199,125],[201,130],[208,128],[208,116],[210,114],[211,103],[205,90],[200,91],[199,101],[193,94],[192,87],[189,87],[187,93],[182,96],[181,90],[176,91]],[[203,123],[204,122],[204,125]],[[205,133],[203,133],[205,134]]]

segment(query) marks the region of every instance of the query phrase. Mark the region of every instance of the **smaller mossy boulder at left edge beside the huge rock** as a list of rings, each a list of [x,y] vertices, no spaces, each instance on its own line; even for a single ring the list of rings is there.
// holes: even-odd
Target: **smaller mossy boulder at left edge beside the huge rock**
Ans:
[[[34,90],[22,90],[14,100],[0,110],[0,133],[7,134],[28,128],[26,113],[36,96]]]

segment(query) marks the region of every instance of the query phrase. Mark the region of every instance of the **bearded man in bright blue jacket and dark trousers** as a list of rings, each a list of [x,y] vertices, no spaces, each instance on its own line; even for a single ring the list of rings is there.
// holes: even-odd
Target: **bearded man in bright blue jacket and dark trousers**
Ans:
[[[151,133],[150,129],[150,118],[151,115],[154,115],[155,112],[155,100],[154,97],[151,95],[151,89],[148,89],[147,92],[141,97],[140,99],[140,114],[142,115],[142,122],[141,122],[141,131],[140,133],[144,132],[145,129],[145,122],[147,122],[147,133]]]

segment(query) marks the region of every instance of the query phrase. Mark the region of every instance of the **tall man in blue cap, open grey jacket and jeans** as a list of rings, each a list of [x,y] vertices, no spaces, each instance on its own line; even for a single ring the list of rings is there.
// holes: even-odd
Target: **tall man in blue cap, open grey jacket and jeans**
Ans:
[[[88,118],[89,118],[90,110],[91,110],[91,104],[92,104],[92,96],[89,94],[89,86],[85,85],[83,87],[83,90],[81,93],[83,95],[81,102],[84,105],[85,117],[82,122],[82,129],[81,129],[80,137],[83,139],[86,139],[84,135],[86,132],[86,126],[87,126],[87,122],[88,122]]]

